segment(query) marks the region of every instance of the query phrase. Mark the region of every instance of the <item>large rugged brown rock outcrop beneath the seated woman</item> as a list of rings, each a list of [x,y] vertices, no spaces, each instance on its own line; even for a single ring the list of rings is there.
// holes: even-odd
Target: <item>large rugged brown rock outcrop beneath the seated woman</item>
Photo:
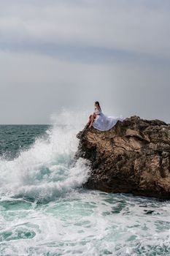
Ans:
[[[101,132],[79,132],[76,157],[89,159],[85,187],[170,199],[170,124],[139,116]]]

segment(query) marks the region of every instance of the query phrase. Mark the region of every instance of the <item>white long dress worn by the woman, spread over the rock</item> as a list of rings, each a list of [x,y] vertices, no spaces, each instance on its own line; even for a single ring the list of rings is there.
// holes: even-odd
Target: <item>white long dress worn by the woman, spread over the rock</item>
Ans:
[[[93,121],[93,127],[100,131],[107,131],[114,127],[117,121],[123,121],[123,116],[106,116],[101,110],[96,109],[96,118]]]

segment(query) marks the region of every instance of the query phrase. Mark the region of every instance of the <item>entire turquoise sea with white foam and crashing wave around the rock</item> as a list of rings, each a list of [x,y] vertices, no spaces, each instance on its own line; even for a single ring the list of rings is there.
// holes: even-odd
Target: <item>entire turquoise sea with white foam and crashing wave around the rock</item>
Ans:
[[[79,130],[0,126],[0,255],[170,255],[169,201],[82,189]]]

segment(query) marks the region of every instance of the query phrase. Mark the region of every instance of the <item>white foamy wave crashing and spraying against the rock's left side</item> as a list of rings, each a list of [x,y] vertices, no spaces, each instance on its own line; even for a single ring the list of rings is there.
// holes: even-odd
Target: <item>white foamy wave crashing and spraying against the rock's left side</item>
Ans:
[[[53,200],[62,192],[80,187],[88,178],[88,161],[79,159],[76,138],[83,116],[63,110],[53,115],[53,127],[44,138],[12,161],[0,161],[0,194],[26,196],[35,200]]]

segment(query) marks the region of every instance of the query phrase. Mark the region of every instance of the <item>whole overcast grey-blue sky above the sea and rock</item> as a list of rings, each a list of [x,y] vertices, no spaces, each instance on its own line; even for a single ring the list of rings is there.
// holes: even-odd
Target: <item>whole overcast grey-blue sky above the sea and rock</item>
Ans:
[[[63,109],[170,123],[169,0],[0,0],[0,124]]]

